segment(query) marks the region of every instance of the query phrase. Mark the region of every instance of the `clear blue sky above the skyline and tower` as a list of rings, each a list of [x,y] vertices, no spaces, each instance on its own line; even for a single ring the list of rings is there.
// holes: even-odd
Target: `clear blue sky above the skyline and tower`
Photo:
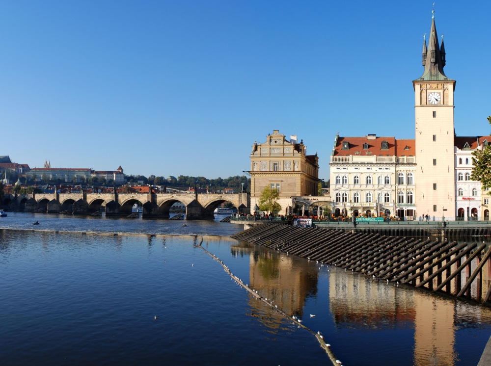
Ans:
[[[439,1],[458,135],[491,131],[491,2]],[[414,138],[432,1],[0,1],[0,155],[32,167],[242,175],[297,134]]]

